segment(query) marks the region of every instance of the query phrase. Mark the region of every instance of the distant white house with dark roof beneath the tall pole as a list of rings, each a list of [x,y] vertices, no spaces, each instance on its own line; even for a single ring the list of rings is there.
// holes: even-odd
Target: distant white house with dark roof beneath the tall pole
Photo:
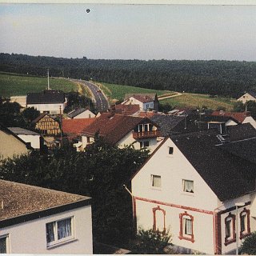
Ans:
[[[43,90],[26,96],[26,107],[34,107],[41,113],[63,114],[67,100],[62,90]]]

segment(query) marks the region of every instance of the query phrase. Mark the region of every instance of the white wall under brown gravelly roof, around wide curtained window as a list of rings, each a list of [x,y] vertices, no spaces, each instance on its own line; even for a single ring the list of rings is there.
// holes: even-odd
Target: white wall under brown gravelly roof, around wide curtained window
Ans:
[[[46,223],[74,216],[74,239],[53,248],[46,246]],[[9,235],[11,254],[92,254],[91,207],[84,206],[61,214],[38,218],[1,229]]]

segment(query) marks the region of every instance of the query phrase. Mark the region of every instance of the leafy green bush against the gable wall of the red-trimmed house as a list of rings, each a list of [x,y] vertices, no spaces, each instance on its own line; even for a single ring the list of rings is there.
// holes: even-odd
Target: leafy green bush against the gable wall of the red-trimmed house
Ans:
[[[133,254],[165,254],[164,249],[170,245],[171,235],[169,230],[161,233],[154,230],[139,230],[138,242],[132,248]]]

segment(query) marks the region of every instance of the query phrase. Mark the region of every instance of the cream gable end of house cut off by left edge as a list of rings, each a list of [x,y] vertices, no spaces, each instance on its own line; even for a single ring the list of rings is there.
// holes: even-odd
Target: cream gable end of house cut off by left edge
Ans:
[[[30,150],[30,145],[0,123],[0,158],[13,158],[14,155],[28,154]]]

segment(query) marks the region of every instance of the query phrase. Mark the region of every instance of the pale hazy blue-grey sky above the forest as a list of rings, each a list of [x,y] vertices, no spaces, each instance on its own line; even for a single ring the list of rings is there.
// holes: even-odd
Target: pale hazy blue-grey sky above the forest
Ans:
[[[256,6],[0,3],[9,54],[256,61],[255,31]]]

